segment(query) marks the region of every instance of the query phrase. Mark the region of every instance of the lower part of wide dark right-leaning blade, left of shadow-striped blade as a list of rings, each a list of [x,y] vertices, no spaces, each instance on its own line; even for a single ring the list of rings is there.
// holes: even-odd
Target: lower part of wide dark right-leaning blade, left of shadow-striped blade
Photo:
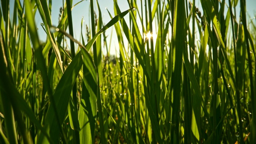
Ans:
[[[72,87],[76,81],[80,68],[82,67],[82,57],[81,53],[78,53],[72,62],[69,64],[68,68],[65,70],[63,76],[61,77],[56,90],[54,92],[54,102],[56,102],[57,112],[59,114],[60,122],[64,122],[66,117],[66,112],[68,109],[68,102],[70,101],[70,95]],[[50,134],[54,142],[58,142],[59,134],[61,132],[58,127],[58,120],[54,116],[54,106],[50,104],[48,112],[46,114],[45,128]],[[48,141],[42,135],[39,136],[38,142],[47,143]]]

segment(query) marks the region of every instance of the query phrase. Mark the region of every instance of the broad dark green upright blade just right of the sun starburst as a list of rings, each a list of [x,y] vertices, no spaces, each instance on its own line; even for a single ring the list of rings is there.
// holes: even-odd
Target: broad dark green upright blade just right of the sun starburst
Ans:
[[[175,13],[172,32],[172,47],[175,49],[175,64],[173,73],[173,110],[172,124],[174,126],[180,121],[180,90],[181,90],[181,74],[182,74],[182,53],[184,48],[184,16],[185,4],[184,0],[175,1]],[[188,72],[189,73],[189,72]],[[171,142],[179,142],[179,126],[171,127]]]

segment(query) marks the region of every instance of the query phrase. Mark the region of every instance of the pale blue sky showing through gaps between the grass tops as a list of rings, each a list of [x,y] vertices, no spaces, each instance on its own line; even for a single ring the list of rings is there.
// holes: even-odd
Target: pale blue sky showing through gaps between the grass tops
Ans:
[[[20,0],[21,3],[23,4],[23,0]],[[65,1],[65,0],[64,0]],[[155,0],[153,0],[155,1]],[[227,0],[226,0],[227,1]],[[80,0],[73,0],[72,6],[74,4],[80,2]],[[140,3],[140,0],[137,0],[138,3]],[[144,2],[144,0],[143,0]],[[102,12],[102,20],[103,23],[106,24],[110,21],[110,16],[108,15],[108,12],[105,8],[108,8],[112,16],[114,16],[114,2],[113,0],[98,0],[98,3],[100,5],[100,9]],[[228,1],[227,1],[228,3]],[[240,6],[239,6],[240,0],[238,2],[238,6],[236,7],[236,12],[240,12]],[[199,9],[202,12],[202,8],[199,5],[200,2],[199,0],[196,0],[196,6],[199,7]],[[12,17],[12,8],[14,5],[14,0],[10,0],[10,14]],[[118,5],[120,6],[121,11],[127,10],[129,8],[127,0],[118,0]],[[58,16],[59,16],[59,10],[60,7],[62,7],[62,0],[52,0],[52,25],[57,26],[58,25]],[[78,5],[76,5],[73,10],[72,10],[72,19],[73,19],[73,28],[74,28],[74,38],[77,40],[80,40],[81,37],[81,21],[83,18],[83,35],[85,36],[85,24],[89,26],[90,24],[90,0],[84,0],[80,2]],[[140,6],[139,6],[140,7]],[[228,8],[226,7],[225,10]],[[98,8],[96,7],[96,0],[94,0],[94,10],[96,13],[98,13]],[[256,0],[246,0],[246,10],[247,14],[251,16],[251,18],[256,17]],[[239,16],[239,13],[237,14]],[[126,16],[128,18],[128,16]],[[255,19],[256,20],[256,19]],[[38,34],[40,37],[40,40],[45,41],[46,40],[46,33],[44,32],[42,26],[40,23],[42,23],[41,17],[39,13],[36,13],[35,21],[38,27]],[[108,42],[110,42],[110,34],[112,32],[112,29],[114,27],[111,27],[106,31],[106,35],[108,35]],[[113,36],[112,36],[112,45],[111,45],[111,54],[115,54],[115,48],[118,47],[117,43],[117,38],[116,34],[114,34],[115,31],[113,31]],[[69,40],[68,40],[69,41]],[[104,52],[104,50],[103,50]]]

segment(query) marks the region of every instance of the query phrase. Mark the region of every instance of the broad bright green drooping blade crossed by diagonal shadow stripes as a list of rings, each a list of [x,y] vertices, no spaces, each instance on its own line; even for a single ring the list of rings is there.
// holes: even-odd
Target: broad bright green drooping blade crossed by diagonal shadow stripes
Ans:
[[[81,49],[83,55],[83,82],[82,98],[79,110],[80,143],[94,141],[94,129],[97,113],[97,72],[92,57],[85,50]],[[101,112],[102,113],[102,112]],[[102,121],[101,121],[102,122]],[[103,129],[103,127],[100,127]],[[104,130],[104,129],[103,129]],[[103,132],[104,134],[104,132]],[[105,140],[103,137],[102,140]],[[104,142],[102,142],[104,143]]]

